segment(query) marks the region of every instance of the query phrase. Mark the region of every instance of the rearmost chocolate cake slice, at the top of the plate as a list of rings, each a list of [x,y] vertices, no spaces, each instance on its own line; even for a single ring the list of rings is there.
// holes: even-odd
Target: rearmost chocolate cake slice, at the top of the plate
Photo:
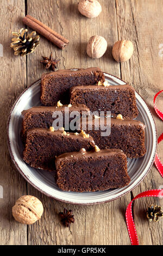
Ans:
[[[99,68],[58,70],[43,74],[41,78],[41,103],[55,106],[60,100],[69,103],[69,89],[73,86],[104,82],[104,74]]]

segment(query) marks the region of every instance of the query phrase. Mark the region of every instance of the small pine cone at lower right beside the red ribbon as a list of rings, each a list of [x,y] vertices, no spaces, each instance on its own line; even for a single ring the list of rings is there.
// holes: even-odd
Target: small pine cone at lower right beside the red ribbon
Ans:
[[[161,206],[150,205],[147,210],[147,218],[149,222],[159,221],[159,217],[163,217],[163,212],[161,211]]]

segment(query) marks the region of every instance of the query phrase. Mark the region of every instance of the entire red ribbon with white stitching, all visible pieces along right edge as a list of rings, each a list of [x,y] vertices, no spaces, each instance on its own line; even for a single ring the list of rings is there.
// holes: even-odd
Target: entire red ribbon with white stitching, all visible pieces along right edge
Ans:
[[[154,96],[154,109],[155,109],[155,112],[158,114],[158,116],[161,118],[161,120],[163,120],[163,113],[156,107],[155,100],[156,100],[156,97],[162,92],[163,90],[161,90]],[[162,140],[163,140],[163,133],[158,138],[158,144]],[[163,164],[161,163],[157,153],[155,155],[154,163],[163,178]],[[148,191],[142,192],[138,194],[136,197],[134,197],[134,199],[131,200],[131,202],[128,204],[127,210],[126,210],[126,222],[127,222],[127,228],[128,228],[131,245],[139,245],[139,240],[137,237],[136,228],[133,220],[132,203],[135,199],[142,198],[142,197],[163,197],[163,190],[148,190]]]

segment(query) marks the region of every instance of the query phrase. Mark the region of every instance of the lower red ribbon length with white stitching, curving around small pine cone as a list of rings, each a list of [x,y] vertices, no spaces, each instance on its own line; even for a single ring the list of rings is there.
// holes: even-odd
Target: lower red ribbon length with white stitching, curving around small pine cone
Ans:
[[[138,194],[136,197],[131,200],[129,205],[127,206],[126,210],[126,222],[128,233],[131,241],[131,245],[139,245],[139,240],[136,233],[136,228],[133,220],[132,214],[132,203],[135,199],[142,198],[142,197],[163,197],[163,190],[148,190]]]

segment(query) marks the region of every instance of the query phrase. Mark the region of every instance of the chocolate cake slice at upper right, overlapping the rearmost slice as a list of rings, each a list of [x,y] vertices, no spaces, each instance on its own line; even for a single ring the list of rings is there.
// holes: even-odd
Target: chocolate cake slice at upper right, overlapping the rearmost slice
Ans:
[[[123,118],[134,119],[138,115],[135,90],[124,86],[77,86],[70,89],[70,103],[82,103],[90,111],[111,111],[116,117],[122,114]]]

